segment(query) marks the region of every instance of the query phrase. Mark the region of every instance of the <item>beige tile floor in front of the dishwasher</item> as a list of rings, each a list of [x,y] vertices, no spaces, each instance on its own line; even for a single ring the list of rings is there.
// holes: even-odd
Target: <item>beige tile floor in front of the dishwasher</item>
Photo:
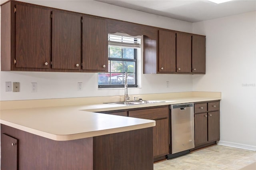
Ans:
[[[154,170],[256,170],[256,151],[214,145],[154,164]]]

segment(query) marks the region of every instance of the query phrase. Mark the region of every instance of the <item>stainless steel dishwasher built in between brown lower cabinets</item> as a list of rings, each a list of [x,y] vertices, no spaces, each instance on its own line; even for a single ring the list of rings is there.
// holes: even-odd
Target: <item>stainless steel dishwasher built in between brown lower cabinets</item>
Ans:
[[[170,105],[171,150],[167,158],[189,153],[194,142],[194,103]]]

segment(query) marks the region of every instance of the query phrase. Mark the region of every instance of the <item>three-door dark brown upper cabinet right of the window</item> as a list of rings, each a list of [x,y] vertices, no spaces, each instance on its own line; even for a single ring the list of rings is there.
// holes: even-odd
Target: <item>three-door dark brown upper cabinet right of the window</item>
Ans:
[[[143,59],[144,74],[205,74],[205,36],[159,30],[158,43],[143,36]]]

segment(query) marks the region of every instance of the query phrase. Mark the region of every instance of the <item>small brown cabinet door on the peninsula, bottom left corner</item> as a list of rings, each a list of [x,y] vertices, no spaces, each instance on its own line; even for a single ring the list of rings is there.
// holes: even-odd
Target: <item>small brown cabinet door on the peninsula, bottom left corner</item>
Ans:
[[[18,169],[18,140],[1,134],[1,170]]]

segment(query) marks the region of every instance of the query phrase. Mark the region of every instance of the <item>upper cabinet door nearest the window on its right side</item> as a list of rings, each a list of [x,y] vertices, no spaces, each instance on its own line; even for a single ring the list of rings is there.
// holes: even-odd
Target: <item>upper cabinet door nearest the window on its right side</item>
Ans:
[[[159,30],[159,72],[176,72],[176,34]]]

